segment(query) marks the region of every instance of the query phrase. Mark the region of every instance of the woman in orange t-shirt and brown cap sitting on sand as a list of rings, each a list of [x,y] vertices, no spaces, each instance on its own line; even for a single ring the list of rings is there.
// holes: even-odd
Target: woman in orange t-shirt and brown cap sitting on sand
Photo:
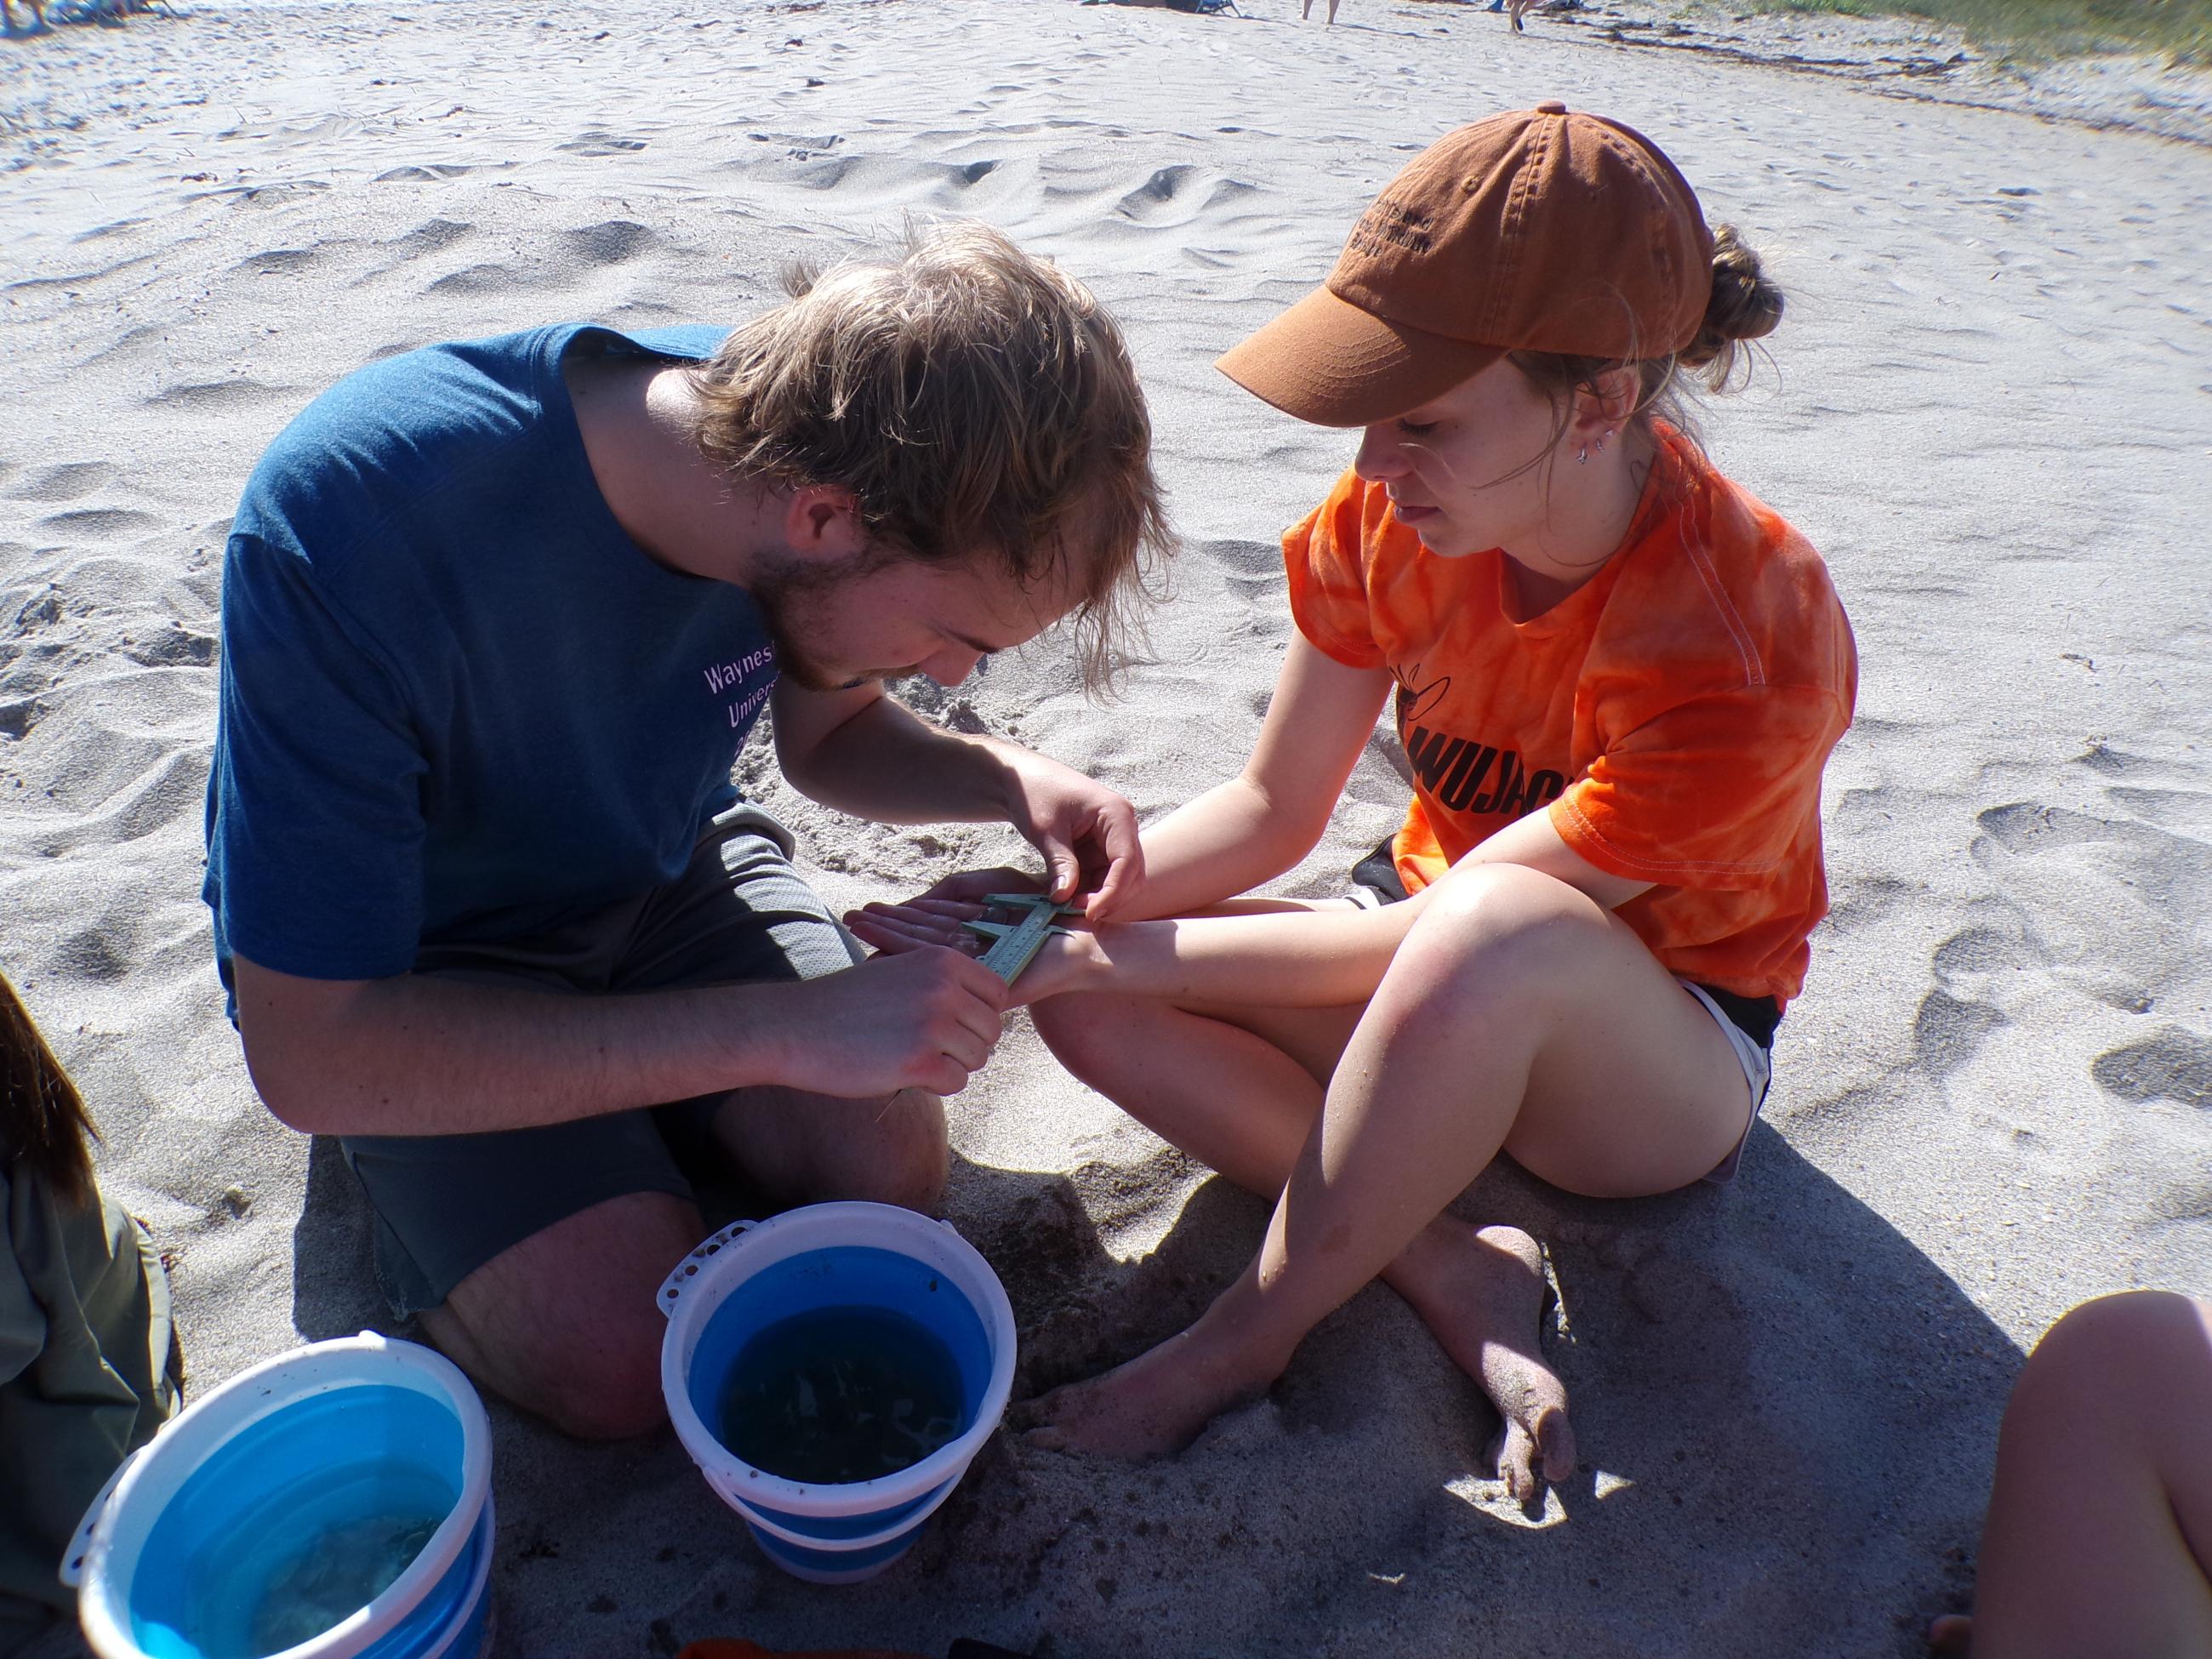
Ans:
[[[1243,774],[1146,830],[1117,925],[1020,1000],[1281,1201],[1197,1325],[1042,1402],[1044,1440],[1172,1451],[1380,1274],[1498,1405],[1511,1491],[1573,1469],[1537,1245],[1444,1206],[1500,1152],[1593,1197],[1728,1179],[1767,1093],[1856,655],[1818,555],[1670,394],[1781,310],[1650,139],[1544,104],[1438,139],[1221,358],[1358,456],[1283,538],[1296,633]],[[1385,703],[1413,801],[1367,905],[1237,900],[1314,847]],[[856,929],[945,942],[989,880]]]

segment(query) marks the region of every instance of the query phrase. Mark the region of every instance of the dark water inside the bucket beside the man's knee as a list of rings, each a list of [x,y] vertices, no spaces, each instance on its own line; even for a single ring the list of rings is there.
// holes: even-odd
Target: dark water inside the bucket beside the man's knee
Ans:
[[[719,1438],[785,1480],[876,1480],[951,1444],[960,1402],[960,1365],[920,1321],[889,1307],[818,1307],[739,1349]]]

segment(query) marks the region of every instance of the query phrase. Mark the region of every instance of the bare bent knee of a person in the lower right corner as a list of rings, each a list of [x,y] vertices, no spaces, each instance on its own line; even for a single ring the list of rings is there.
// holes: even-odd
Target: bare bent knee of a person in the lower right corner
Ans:
[[[2212,1655],[2212,1301],[2101,1296],[2035,1345],[1973,1579],[1973,1619],[1938,1619],[1936,1652]]]

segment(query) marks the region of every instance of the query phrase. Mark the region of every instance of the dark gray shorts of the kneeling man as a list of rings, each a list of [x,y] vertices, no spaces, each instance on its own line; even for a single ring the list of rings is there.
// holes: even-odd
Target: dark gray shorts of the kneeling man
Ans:
[[[792,869],[792,838],[752,805],[719,816],[686,872],[635,900],[498,945],[434,947],[416,973],[551,995],[812,980],[860,960]],[[628,1192],[690,1199],[670,1141],[706,1144],[723,1095],[495,1135],[354,1135],[345,1161],[376,1208],[376,1283],[398,1318],[533,1232]]]

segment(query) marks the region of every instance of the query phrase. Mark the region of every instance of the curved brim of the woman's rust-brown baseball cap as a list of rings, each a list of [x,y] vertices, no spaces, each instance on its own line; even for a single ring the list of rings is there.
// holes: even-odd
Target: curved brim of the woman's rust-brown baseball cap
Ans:
[[[1502,356],[1500,345],[1387,323],[1316,288],[1214,367],[1298,420],[1369,427],[1418,409]]]

